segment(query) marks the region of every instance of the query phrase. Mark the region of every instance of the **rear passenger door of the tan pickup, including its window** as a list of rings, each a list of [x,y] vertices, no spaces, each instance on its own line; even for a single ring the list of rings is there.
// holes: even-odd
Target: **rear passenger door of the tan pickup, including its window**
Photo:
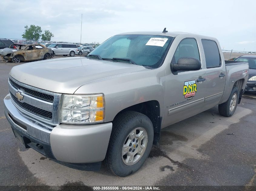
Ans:
[[[216,40],[201,39],[206,65],[205,106],[214,107],[219,103],[226,84],[226,65],[221,58]]]

